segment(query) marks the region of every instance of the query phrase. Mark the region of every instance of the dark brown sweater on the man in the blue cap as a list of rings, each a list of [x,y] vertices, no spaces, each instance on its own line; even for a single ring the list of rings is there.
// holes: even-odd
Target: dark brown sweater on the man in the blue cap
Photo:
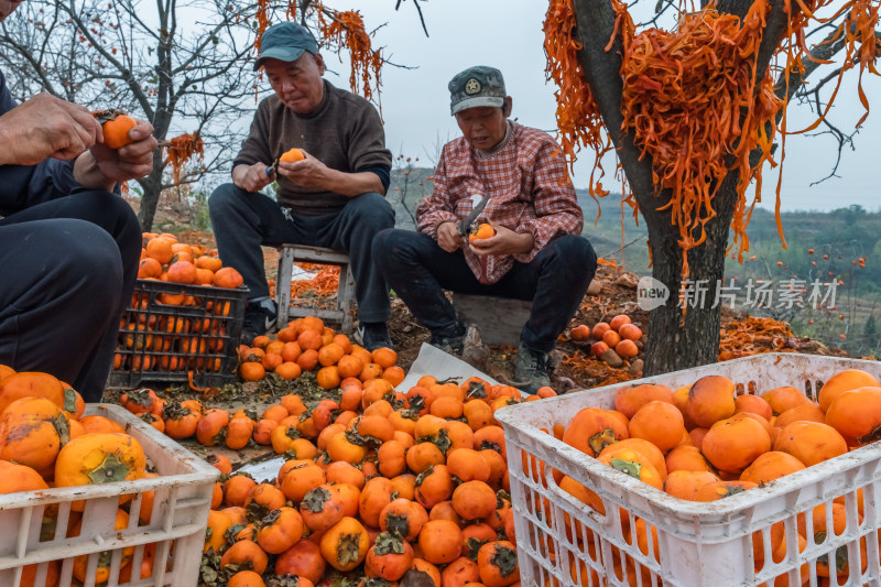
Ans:
[[[392,165],[385,149],[385,131],[373,106],[350,91],[324,81],[324,99],[314,113],[297,115],[273,94],[261,100],[251,133],[232,162],[236,165],[271,164],[289,149],[302,148],[328,167],[344,173],[384,170]],[[382,176],[381,173],[378,175]],[[339,211],[346,196],[307,189],[279,176],[279,204],[308,216]]]

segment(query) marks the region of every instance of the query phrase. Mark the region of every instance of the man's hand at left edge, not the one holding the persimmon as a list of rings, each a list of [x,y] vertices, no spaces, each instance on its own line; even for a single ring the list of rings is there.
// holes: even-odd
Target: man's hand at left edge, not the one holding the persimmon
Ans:
[[[0,117],[0,164],[69,161],[102,139],[101,124],[85,107],[39,94]]]

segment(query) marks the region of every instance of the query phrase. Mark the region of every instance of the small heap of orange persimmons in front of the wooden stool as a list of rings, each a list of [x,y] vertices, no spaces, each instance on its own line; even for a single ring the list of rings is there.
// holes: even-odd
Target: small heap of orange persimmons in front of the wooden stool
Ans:
[[[239,376],[244,381],[260,381],[267,372],[282,379],[296,379],[316,370],[316,383],[326,390],[339,388],[344,379],[367,382],[384,379],[392,385],[404,380],[398,367],[398,354],[390,348],[372,352],[352,344],[344,334],[327,328],[320,318],[306,316],[279,330],[273,340],[258,336],[249,347],[239,347]]]

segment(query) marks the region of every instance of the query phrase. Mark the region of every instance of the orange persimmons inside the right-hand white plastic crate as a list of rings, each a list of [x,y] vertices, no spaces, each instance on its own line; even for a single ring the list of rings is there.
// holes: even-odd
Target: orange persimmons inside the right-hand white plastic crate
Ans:
[[[793,387],[766,390],[761,395],[740,391],[720,376],[703,377],[675,391],[662,384],[626,387],[616,394],[614,410],[586,407],[567,426],[559,425],[553,432],[599,461],[690,501],[715,501],[760,486],[773,487],[783,476],[845,455],[881,436],[881,382],[866,371],[836,373],[822,387],[817,401]],[[523,460],[524,470],[539,482],[544,482],[540,475],[543,465],[534,457]],[[597,493],[558,470],[553,477],[561,489],[606,513],[607,506]],[[823,543],[830,533],[841,534],[848,524],[861,523],[861,489],[857,501],[857,520],[848,520],[844,497],[831,501],[831,512],[825,506],[815,508],[812,524],[805,513],[798,514],[800,551],[811,541]],[[621,528],[628,542],[648,556],[651,530],[654,557],[660,561],[656,529],[641,519],[631,526],[624,518]],[[579,537],[591,535],[589,531],[581,534],[578,528]],[[572,528],[566,531],[574,532]],[[766,548],[764,540],[773,543]],[[774,524],[769,539],[755,532],[757,572],[769,553],[775,563],[783,561],[786,544],[782,521]],[[864,569],[864,542],[861,551]],[[848,561],[841,552],[837,557],[841,584],[848,577]],[[825,555],[817,559],[816,568],[820,577],[836,573]],[[805,580],[807,572],[805,564]]]

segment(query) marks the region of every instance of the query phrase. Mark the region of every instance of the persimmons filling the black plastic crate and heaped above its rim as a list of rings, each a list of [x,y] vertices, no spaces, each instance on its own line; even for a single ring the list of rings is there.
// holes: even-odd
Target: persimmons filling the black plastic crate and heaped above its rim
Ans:
[[[144,232],[138,278],[184,285],[235,289],[241,274],[202,244],[177,242],[174,235]],[[173,307],[202,308],[204,317],[178,315]],[[146,312],[148,308],[154,312]],[[155,308],[160,308],[156,311]],[[230,302],[204,300],[193,290],[135,290],[131,311],[120,319],[113,369],[156,371],[219,371],[227,338]]]

